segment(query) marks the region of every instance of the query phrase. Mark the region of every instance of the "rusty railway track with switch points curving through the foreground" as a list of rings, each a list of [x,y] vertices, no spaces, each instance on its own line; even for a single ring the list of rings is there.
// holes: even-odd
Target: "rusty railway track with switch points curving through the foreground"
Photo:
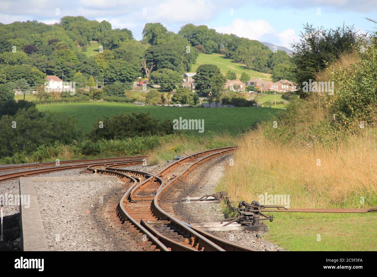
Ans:
[[[147,251],[252,251],[222,240],[201,230],[195,230],[170,213],[179,191],[188,184],[185,175],[209,159],[234,151],[236,147],[207,150],[173,162],[158,173],[87,167],[88,173],[116,175],[127,183],[117,216],[121,228],[131,234]]]

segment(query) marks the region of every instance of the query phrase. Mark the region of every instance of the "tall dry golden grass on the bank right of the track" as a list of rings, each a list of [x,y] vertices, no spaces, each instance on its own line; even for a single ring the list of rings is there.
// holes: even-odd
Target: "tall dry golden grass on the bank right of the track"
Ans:
[[[377,196],[377,129],[329,147],[297,147],[250,132],[239,144],[219,190],[234,200],[289,194],[290,208],[370,207]],[[360,203],[360,197],[365,203]]]

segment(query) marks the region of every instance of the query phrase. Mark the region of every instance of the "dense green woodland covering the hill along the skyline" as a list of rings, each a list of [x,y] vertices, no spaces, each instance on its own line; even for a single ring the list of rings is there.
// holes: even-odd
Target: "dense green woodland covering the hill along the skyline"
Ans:
[[[43,84],[46,75],[75,81],[78,87],[94,80],[132,83],[150,76],[158,82],[158,73],[175,83],[190,71],[199,52],[224,54],[248,68],[272,73],[276,80],[291,77],[284,51],[273,53],[259,41],[219,34],[204,25],[186,24],[175,34],[161,23],[147,23],[141,41],[128,29],[112,29],[107,21],[81,16],[66,16],[54,25],[38,21],[1,24],[0,32],[0,84],[9,83],[11,88],[22,89],[14,83],[19,80],[30,86]],[[86,49],[93,41],[100,49],[87,57]]]

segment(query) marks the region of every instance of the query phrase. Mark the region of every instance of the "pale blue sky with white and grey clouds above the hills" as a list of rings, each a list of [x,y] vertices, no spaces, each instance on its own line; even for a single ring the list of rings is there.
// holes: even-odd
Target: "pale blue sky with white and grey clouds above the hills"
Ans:
[[[107,20],[113,28],[128,28],[141,38],[144,24],[161,22],[170,31],[182,25],[207,25],[259,41],[290,47],[302,24],[336,28],[343,22],[360,32],[372,31],[377,0],[0,0],[0,22],[38,20],[47,24],[66,15]]]

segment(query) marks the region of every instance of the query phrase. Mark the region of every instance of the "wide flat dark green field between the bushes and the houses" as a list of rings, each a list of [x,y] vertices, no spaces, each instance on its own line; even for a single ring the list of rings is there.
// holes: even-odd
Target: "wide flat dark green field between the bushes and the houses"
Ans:
[[[237,135],[257,121],[266,120],[278,109],[262,107],[246,108],[186,108],[161,106],[135,106],[123,103],[72,103],[72,104],[41,104],[38,110],[58,112],[74,116],[78,127],[88,132],[97,118],[111,117],[121,113],[150,112],[157,119],[204,119],[204,133],[207,131],[228,131]],[[192,132],[192,131],[187,131]],[[199,134],[198,131],[193,132]],[[200,134],[199,134],[200,135]]]

